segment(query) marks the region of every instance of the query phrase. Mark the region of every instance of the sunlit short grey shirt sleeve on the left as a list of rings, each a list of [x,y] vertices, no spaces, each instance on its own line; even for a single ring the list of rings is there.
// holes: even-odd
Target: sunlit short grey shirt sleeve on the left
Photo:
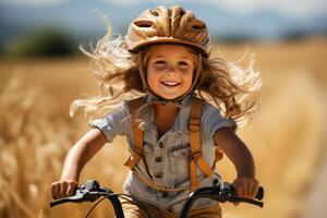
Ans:
[[[111,143],[117,135],[126,135],[129,133],[129,109],[125,102],[116,110],[107,113],[101,119],[88,121],[90,128],[99,129],[106,140]]]

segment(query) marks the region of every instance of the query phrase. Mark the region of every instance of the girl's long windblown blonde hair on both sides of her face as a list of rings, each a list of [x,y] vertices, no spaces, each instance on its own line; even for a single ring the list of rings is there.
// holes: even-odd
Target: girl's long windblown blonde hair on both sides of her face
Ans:
[[[82,47],[81,50],[90,58],[100,95],[74,100],[70,108],[71,117],[78,108],[83,108],[88,118],[100,117],[117,108],[122,99],[146,94],[138,73],[140,64],[146,69],[146,58],[140,57],[146,56],[146,51],[137,55],[129,52],[122,36],[113,38],[110,28],[90,52]],[[253,70],[253,58],[246,69],[222,58],[203,58],[195,94],[219,107],[226,118],[238,122],[238,126],[246,124],[259,107],[262,80],[259,73]]]

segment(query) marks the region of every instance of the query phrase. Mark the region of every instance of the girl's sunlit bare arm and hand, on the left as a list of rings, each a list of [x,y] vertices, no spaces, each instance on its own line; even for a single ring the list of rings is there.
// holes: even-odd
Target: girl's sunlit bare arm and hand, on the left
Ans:
[[[106,137],[98,129],[88,131],[70,149],[64,164],[60,180],[51,184],[53,198],[71,196],[78,185],[78,178],[83,167],[105,145]]]

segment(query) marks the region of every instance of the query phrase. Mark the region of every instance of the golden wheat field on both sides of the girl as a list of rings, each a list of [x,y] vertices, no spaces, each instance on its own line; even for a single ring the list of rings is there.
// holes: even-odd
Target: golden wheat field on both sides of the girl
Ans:
[[[216,45],[214,56],[235,61],[245,47],[255,53],[264,85],[261,110],[238,134],[255,158],[265,207],[222,204],[223,217],[305,218],[308,187],[326,158],[327,40]],[[82,113],[69,117],[69,106],[97,93],[86,58],[0,60],[0,217],[85,217],[89,204],[48,203],[66,152],[88,130]],[[126,157],[118,137],[86,166],[81,181],[96,179],[120,192]],[[217,170],[227,181],[235,177],[227,158]],[[108,205],[92,217],[108,217]]]

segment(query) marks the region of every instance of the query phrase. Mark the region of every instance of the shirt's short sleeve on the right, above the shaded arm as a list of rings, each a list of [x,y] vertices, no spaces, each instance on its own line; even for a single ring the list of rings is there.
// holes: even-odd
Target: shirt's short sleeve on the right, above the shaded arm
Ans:
[[[213,138],[216,131],[221,128],[237,129],[237,122],[233,119],[226,119],[221,116],[218,108],[206,104],[202,113],[202,130],[206,138]]]

